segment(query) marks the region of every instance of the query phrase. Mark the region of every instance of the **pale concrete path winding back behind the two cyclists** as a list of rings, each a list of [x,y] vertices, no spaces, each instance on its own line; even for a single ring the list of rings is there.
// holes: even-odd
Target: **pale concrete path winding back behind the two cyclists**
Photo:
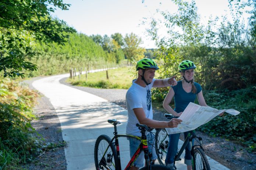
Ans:
[[[113,137],[113,125],[107,123],[107,119],[120,121],[118,133],[125,134],[127,110],[98,96],[60,84],[59,80],[65,77],[69,74],[45,77],[32,85],[49,98],[60,119],[63,140],[67,142],[67,170],[93,170],[97,137],[101,134]],[[120,152],[124,169],[129,160],[129,145],[125,138],[120,139]],[[212,170],[228,170],[215,160],[208,159]],[[183,162],[176,163],[178,170],[186,169]]]

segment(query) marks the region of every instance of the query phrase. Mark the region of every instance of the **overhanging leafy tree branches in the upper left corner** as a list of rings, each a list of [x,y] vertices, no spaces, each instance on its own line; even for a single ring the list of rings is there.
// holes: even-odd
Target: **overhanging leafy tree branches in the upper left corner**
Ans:
[[[37,70],[37,66],[26,58],[40,53],[32,50],[24,35],[48,45],[51,42],[64,45],[68,37],[66,33],[75,32],[64,21],[50,17],[50,12],[56,8],[49,7],[49,4],[61,10],[70,7],[63,0],[0,1],[0,71],[4,71],[4,77],[17,75],[23,78],[22,71]]]

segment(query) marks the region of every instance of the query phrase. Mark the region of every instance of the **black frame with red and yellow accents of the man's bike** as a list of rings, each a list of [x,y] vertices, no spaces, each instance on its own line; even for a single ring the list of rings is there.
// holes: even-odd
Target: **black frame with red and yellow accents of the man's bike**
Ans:
[[[132,156],[131,160],[128,162],[127,166],[125,167],[124,170],[129,170],[132,166],[132,164],[135,162],[135,160],[138,158],[138,156],[141,154],[141,152],[144,151],[144,156],[145,156],[145,160],[146,160],[146,166],[150,167],[150,165],[153,165],[153,159],[152,159],[152,154],[149,153],[149,149],[147,146],[147,137],[145,135],[145,132],[142,132],[142,137],[138,137],[138,136],[133,136],[133,135],[128,135],[128,134],[117,134],[117,126],[113,123],[114,125],[114,130],[115,132],[114,137],[111,139],[110,144],[113,143],[113,141],[115,140],[115,147],[116,147],[116,151],[117,151],[117,158],[118,158],[118,167],[119,170],[121,170],[121,160],[120,160],[120,150],[119,150],[119,142],[118,142],[118,138],[119,137],[131,137],[131,138],[136,138],[138,140],[141,141],[141,144],[139,145],[139,147],[137,148],[136,152],[134,153],[134,155]],[[106,151],[109,149],[110,144],[108,145],[108,147],[106,148]],[[104,158],[105,153],[103,154],[102,158]],[[106,167],[107,168],[107,167]],[[116,169],[118,170],[118,169]]]

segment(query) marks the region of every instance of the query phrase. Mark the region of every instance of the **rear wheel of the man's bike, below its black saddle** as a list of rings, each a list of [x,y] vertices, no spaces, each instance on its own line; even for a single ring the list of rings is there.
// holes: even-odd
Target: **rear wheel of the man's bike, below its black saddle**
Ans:
[[[119,169],[118,167],[118,158],[117,158],[117,151],[115,149],[115,145],[112,143],[110,144],[111,139],[109,136],[103,134],[100,135],[95,143],[94,148],[94,162],[96,170],[104,170],[104,169],[110,169],[115,170]],[[109,146],[108,150],[106,151],[107,147]],[[102,157],[105,153],[104,158]],[[114,162],[113,162],[114,158]],[[100,159],[100,160],[99,160]]]

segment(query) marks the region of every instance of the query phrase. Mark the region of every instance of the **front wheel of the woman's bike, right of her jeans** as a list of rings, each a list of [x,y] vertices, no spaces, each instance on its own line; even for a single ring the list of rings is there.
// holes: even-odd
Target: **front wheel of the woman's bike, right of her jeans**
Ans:
[[[201,148],[194,148],[193,170],[210,170],[208,159]]]

